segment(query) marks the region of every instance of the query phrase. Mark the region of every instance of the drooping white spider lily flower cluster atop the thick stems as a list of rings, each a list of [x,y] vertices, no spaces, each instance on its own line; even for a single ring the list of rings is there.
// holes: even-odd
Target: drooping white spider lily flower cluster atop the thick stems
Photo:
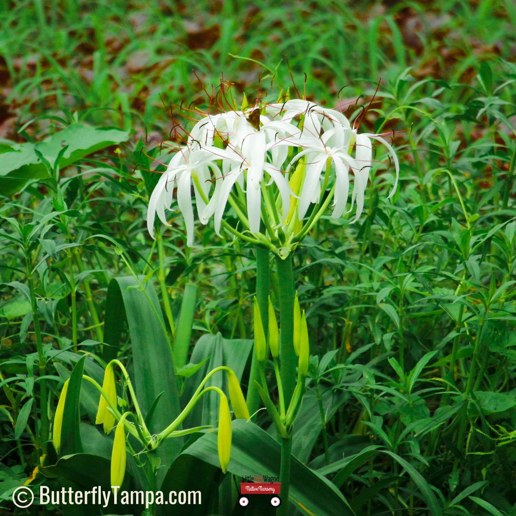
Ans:
[[[168,224],[166,209],[172,205],[176,188],[187,245],[192,246],[193,186],[199,220],[206,224],[213,216],[218,235],[229,203],[244,232],[261,243],[274,244],[276,240],[276,245],[288,245],[304,234],[296,230],[299,224],[294,219],[303,221],[312,204],[315,207],[310,217],[323,199],[333,199],[332,217],[342,216],[349,197],[350,172],[354,181],[348,212],[356,203],[356,220],[362,213],[372,168],[372,140],[381,142],[392,156],[396,169],[392,196],[399,173],[394,150],[379,135],[358,134],[340,111],[293,99],[208,115],[193,126],[186,146],[172,157],[152,192],[149,233],[154,236],[156,214]],[[292,204],[297,217],[292,216]],[[268,235],[265,238],[261,222]]]

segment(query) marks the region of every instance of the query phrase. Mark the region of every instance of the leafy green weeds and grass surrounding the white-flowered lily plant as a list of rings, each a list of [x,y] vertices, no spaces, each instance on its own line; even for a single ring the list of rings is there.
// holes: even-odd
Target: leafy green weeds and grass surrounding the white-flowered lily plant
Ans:
[[[131,327],[112,279],[152,292],[169,341],[159,349],[220,332],[249,353],[253,250],[210,225],[186,248],[174,213],[153,241],[145,222],[161,142],[181,140],[192,117],[181,105],[206,107],[222,80],[238,105],[244,92],[294,94],[293,82],[350,119],[370,104],[361,130],[391,132],[401,162],[392,201],[380,165],[367,213],[322,219],[296,253],[312,358],[293,454],[357,514],[516,514],[511,0],[30,0],[2,2],[1,17],[2,507],[31,475],[69,481],[38,465],[78,357],[90,353],[102,378],[107,343],[135,372],[136,343],[163,340]],[[202,349],[191,362],[214,360]],[[247,354],[232,364],[244,384]],[[191,392],[190,373],[176,371],[169,394]],[[95,439],[85,430],[84,448]],[[220,492],[209,510],[237,511],[230,476],[203,467]]]

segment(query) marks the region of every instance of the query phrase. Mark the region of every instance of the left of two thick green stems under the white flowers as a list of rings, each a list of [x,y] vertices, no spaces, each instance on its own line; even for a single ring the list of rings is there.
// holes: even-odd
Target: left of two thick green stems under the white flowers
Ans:
[[[262,325],[265,332],[267,332],[269,326],[269,268],[269,250],[262,246],[256,246],[256,300],[260,307]],[[252,421],[256,419],[256,416],[253,414],[258,410],[260,400],[255,383],[259,379],[260,362],[256,359],[256,353],[253,353],[246,400],[247,408],[252,415]]]

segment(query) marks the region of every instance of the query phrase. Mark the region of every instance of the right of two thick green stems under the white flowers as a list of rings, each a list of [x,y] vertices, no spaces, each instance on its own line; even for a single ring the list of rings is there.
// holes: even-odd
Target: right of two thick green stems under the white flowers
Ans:
[[[285,406],[288,407],[296,383],[297,357],[294,352],[294,276],[292,272],[292,254],[285,260],[276,256],[278,269],[278,291],[280,298],[280,361],[281,383]]]

